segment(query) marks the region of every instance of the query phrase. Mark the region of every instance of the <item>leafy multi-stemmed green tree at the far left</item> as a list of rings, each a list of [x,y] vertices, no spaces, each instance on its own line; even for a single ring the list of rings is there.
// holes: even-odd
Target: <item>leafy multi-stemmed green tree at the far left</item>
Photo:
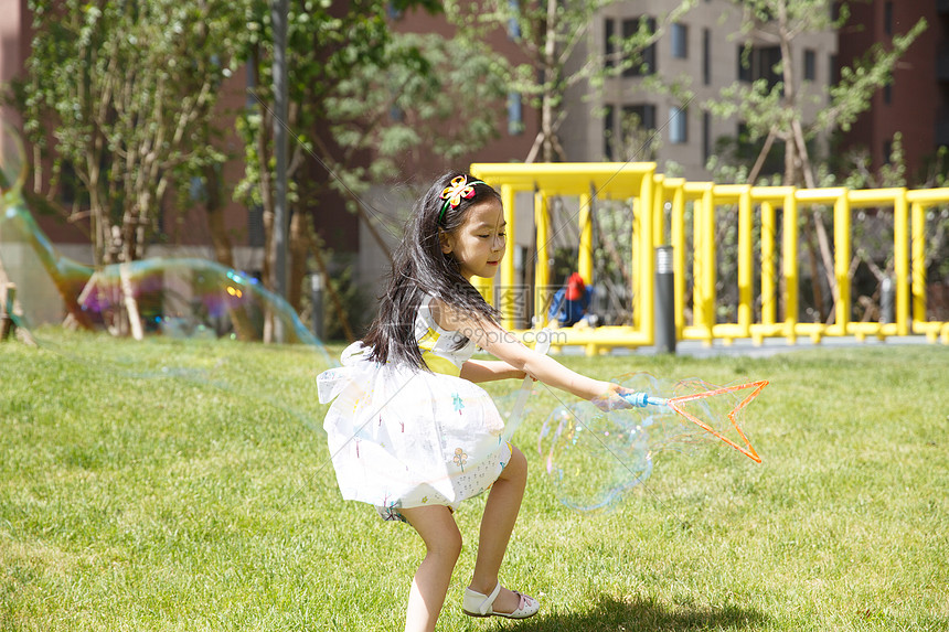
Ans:
[[[83,189],[97,265],[143,255],[170,186],[222,160],[206,137],[239,20],[223,0],[32,0],[36,36],[18,95],[34,189]],[[87,195],[87,197],[86,197]]]

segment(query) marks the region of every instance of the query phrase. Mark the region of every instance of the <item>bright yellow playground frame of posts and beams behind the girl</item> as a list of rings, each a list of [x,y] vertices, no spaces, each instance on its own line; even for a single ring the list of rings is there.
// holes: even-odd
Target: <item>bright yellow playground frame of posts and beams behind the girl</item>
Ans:
[[[866,336],[925,334],[930,342],[949,344],[949,322],[927,318],[926,213],[949,204],[949,189],[849,190],[797,189],[792,186],[751,186],[687,182],[655,172],[654,163],[556,163],[556,164],[472,164],[471,173],[501,192],[508,223],[508,249],[499,279],[484,280],[479,288],[501,310],[503,324],[518,330],[530,342],[531,330],[519,329],[515,310],[519,288],[514,257],[520,199],[533,201],[536,257],[532,281],[533,329],[545,324],[542,297],[550,296],[552,225],[551,201],[557,196],[578,203],[576,231],[579,233],[576,270],[587,283],[595,282],[594,235],[589,214],[596,200],[621,201],[632,213],[631,279],[632,322],[597,328],[565,328],[552,341],[554,346],[582,345],[588,355],[611,347],[639,347],[655,341],[654,289],[655,248],[671,246],[674,275],[674,319],[676,340],[697,340],[712,345],[715,340],[729,344],[751,339],[761,344],[766,338],[783,338],[793,343],[799,336],[820,342],[823,336]],[[518,194],[521,194],[520,196]],[[531,196],[530,194],[533,194]],[[716,213],[721,207],[737,207],[737,213]],[[833,314],[825,322],[799,320],[799,274],[801,253],[800,208],[825,208],[833,231]],[[874,210],[892,214],[893,242],[887,248],[892,261],[892,322],[855,322],[852,306],[854,212]],[[780,211],[780,213],[779,213]],[[691,226],[686,217],[691,215]],[[719,310],[716,278],[716,221],[737,217],[737,306]],[[780,222],[780,225],[778,225]],[[523,228],[523,226],[521,226]],[[776,243],[780,235],[780,243]],[[690,238],[691,237],[691,238]],[[623,236],[622,238],[626,238]],[[690,266],[691,268],[686,268]],[[780,269],[779,269],[780,268]],[[686,275],[686,271],[691,275]],[[691,283],[686,283],[691,277]],[[691,289],[687,287],[691,285]],[[691,294],[690,294],[691,293]],[[734,292],[732,292],[734,296]],[[523,300],[523,299],[520,299]],[[523,306],[520,306],[523,307]],[[782,309],[779,313],[779,307]],[[687,309],[686,309],[687,308]],[[734,314],[723,319],[722,312]],[[686,314],[691,313],[691,319]],[[718,322],[731,320],[734,322]]]

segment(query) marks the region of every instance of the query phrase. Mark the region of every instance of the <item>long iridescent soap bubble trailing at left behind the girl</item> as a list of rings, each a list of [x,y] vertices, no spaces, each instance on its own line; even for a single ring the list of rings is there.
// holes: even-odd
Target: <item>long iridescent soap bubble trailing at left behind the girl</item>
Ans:
[[[268,328],[282,326],[287,342],[322,346],[292,308],[250,275],[200,258],[152,258],[94,270],[60,255],[22,199],[8,194],[4,201],[0,257],[10,280],[26,290],[20,292],[26,322],[45,320],[49,297],[30,291],[45,282],[85,329],[259,341]]]

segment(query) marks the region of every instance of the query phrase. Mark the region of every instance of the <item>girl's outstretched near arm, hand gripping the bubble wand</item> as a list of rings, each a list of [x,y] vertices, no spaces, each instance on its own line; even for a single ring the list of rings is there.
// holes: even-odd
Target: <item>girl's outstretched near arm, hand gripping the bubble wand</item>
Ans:
[[[522,371],[544,384],[572,393],[577,397],[593,400],[600,408],[628,408],[629,405],[618,394],[623,392],[618,384],[594,379],[571,371],[556,360],[526,347],[511,332],[498,323],[455,310],[441,301],[434,300],[433,317],[439,326],[459,331],[474,344],[507,362],[516,371]]]

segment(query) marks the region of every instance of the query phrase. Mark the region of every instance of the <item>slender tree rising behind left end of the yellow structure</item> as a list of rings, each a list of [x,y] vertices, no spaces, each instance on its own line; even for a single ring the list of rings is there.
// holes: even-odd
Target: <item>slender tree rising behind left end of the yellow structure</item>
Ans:
[[[598,88],[607,77],[618,77],[630,68],[643,66],[643,51],[661,36],[664,25],[678,20],[694,0],[679,2],[658,22],[643,17],[635,32],[611,36],[603,54],[584,50],[594,19],[617,2],[619,0],[446,2],[446,12],[462,32],[483,36],[473,25],[487,31],[507,30],[518,44],[525,61],[512,66],[511,90],[526,96],[540,119],[526,162],[567,160],[559,141],[567,90],[583,82]]]

